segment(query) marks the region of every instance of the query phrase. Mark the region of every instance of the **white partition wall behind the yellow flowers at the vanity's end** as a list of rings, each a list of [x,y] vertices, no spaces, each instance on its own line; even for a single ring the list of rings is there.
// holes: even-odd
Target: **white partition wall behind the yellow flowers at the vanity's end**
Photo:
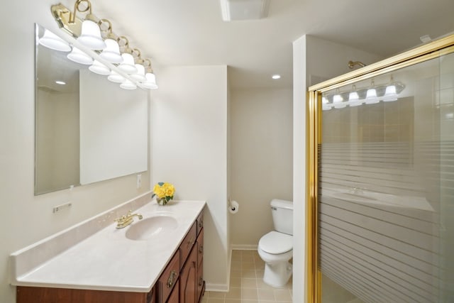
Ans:
[[[151,105],[153,184],[174,184],[175,199],[206,200],[206,288],[227,290],[227,67],[167,67],[158,84]]]

